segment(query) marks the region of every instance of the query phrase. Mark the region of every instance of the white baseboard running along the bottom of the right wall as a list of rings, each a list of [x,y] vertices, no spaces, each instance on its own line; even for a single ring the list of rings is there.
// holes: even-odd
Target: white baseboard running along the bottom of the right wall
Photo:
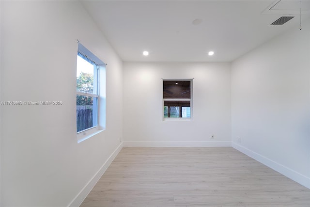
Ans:
[[[256,159],[257,161],[263,163],[264,165],[270,167],[271,169],[279,172],[280,174],[287,176],[288,178],[294,180],[295,182],[305,186],[306,188],[310,189],[310,177],[307,177],[305,175],[302,175],[284,165],[279,164],[278,162],[275,162],[271,159],[268,159],[256,152],[253,152],[252,150],[249,150],[248,148],[239,145],[238,143],[232,142],[232,147],[236,150],[248,155],[248,157],[251,157],[253,159]]]

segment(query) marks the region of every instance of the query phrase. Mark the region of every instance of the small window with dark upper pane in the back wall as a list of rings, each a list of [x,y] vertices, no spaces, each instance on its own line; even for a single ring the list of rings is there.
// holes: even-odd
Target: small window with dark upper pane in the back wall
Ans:
[[[192,80],[163,80],[164,118],[191,118]]]

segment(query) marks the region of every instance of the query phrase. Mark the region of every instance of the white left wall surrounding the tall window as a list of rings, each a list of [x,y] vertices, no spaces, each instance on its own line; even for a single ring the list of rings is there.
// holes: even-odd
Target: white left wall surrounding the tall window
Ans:
[[[76,39],[108,64],[107,129],[82,143]],[[1,100],[63,102],[1,105],[1,206],[78,205],[120,145],[122,77],[121,60],[80,2],[1,1]]]

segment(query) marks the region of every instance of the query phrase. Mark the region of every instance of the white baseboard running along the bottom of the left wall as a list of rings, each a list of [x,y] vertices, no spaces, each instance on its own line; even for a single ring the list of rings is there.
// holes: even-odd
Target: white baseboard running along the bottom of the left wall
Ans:
[[[109,165],[113,161],[113,159],[118,155],[118,153],[123,148],[123,143],[120,143],[120,145],[114,150],[114,152],[110,155],[110,157],[107,159],[107,161],[102,165],[102,167],[98,170],[98,172],[93,175],[92,179],[84,186],[84,188],[78,193],[78,195],[71,201],[71,203],[68,205],[68,207],[79,207],[86,196],[92,191],[93,187],[96,185],[100,177],[106,172]]]

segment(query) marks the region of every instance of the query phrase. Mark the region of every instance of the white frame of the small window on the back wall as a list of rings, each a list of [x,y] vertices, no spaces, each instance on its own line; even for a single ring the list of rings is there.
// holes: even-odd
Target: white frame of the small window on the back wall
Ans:
[[[164,98],[164,81],[176,81],[176,82],[177,81],[190,81],[190,98]],[[162,79],[162,98],[163,98],[163,101],[162,101],[163,120],[191,120],[193,118],[193,79]],[[165,101],[189,101],[190,117],[182,117],[182,113],[179,114],[179,117],[165,117],[165,114],[164,114]],[[182,106],[181,106],[181,109],[179,110],[182,111]]]

